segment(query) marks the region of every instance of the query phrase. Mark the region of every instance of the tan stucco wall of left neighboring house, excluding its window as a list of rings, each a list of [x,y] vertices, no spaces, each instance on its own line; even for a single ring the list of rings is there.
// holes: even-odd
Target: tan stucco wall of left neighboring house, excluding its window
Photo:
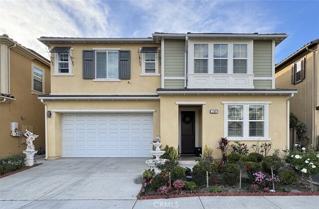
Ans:
[[[18,122],[19,131],[22,131],[22,125],[33,126],[34,134],[39,135],[33,141],[35,149],[45,148],[44,105],[37,99],[37,94],[31,93],[32,63],[45,70],[45,93],[50,92],[50,67],[10,49],[10,90],[16,100],[0,104],[0,157],[26,149],[26,144],[22,143],[25,138],[10,136],[10,122]]]

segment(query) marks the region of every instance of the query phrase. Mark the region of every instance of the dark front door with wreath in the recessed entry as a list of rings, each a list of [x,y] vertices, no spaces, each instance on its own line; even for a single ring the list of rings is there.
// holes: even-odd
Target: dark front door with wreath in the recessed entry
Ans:
[[[181,154],[195,153],[195,111],[181,111]]]

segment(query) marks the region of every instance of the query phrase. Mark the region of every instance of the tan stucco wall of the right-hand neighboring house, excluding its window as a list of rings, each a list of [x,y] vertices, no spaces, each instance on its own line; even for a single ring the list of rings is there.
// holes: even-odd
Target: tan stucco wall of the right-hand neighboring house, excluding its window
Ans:
[[[306,55],[305,53],[303,53],[302,55],[296,57],[292,61],[283,65],[281,68],[276,69],[276,88],[288,88],[298,90],[298,93],[295,94],[295,96],[291,99],[290,111],[297,115],[299,120],[307,124],[308,129],[307,132],[304,133],[304,136],[309,136],[312,138],[312,121],[313,117],[315,117],[315,133],[313,140],[309,143],[309,145],[314,144],[315,146],[317,145],[317,135],[319,135],[318,110],[315,110],[315,113],[313,113],[313,107],[315,108],[319,105],[318,46],[319,45],[312,48],[312,50],[315,50],[317,48],[315,56],[313,56],[314,53],[312,51],[307,51]],[[303,57],[306,58],[306,78],[301,83],[291,84],[291,66],[293,63],[297,62]],[[315,58],[315,67],[313,58]]]

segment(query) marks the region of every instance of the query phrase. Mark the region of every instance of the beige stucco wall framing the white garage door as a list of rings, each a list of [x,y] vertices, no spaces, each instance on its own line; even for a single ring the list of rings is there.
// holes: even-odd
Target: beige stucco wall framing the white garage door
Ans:
[[[48,118],[48,160],[61,157],[62,153],[62,129],[61,112],[54,110],[155,110],[153,113],[153,136],[160,135],[160,101],[159,100],[69,100],[46,101],[47,108],[52,111]],[[121,111],[119,111],[121,112]]]

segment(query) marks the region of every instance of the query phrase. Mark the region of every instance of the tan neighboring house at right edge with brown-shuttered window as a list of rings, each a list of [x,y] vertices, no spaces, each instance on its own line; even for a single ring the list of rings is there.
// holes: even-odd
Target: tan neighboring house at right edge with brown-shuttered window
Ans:
[[[307,125],[303,137],[310,137],[308,145],[314,146],[318,146],[319,135],[318,48],[319,39],[313,40],[276,65],[276,87],[299,92],[291,99],[291,112]]]

